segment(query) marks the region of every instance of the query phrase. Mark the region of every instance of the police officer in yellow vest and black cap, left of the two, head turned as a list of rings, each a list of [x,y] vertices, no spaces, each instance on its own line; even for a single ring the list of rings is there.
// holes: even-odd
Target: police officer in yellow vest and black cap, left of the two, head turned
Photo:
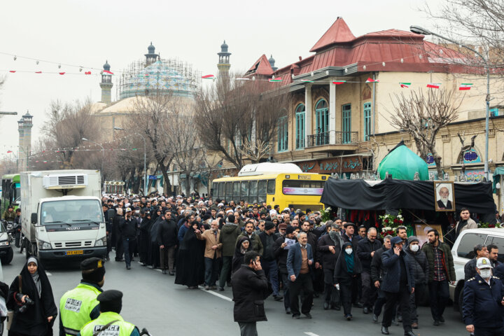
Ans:
[[[99,316],[97,296],[105,281],[104,262],[89,258],[80,263],[82,280],[59,301],[59,336],[75,336],[87,322]]]

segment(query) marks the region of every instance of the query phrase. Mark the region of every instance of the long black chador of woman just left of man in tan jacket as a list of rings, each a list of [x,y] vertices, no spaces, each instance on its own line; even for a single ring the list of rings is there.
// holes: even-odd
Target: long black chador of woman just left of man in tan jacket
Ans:
[[[195,230],[190,226],[180,242],[176,257],[175,283],[193,287],[204,282],[204,247],[205,242],[197,239]]]

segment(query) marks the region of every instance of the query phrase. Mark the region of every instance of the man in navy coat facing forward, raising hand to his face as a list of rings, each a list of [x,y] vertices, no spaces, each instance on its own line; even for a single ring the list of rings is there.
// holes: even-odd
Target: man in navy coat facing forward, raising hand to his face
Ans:
[[[405,251],[402,251],[404,241],[401,237],[393,237],[391,248],[381,255],[381,262],[386,269],[381,289],[386,296],[384,317],[381,321],[381,333],[389,335],[388,327],[392,323],[395,304],[399,302],[402,312],[402,328],[405,336],[415,336],[409,307],[409,294],[414,293],[414,274],[412,263]]]

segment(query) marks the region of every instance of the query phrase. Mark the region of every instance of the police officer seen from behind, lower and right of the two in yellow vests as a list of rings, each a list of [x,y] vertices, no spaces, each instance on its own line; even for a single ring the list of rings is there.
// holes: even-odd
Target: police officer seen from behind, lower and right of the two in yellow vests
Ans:
[[[123,292],[119,290],[105,290],[98,295],[101,314],[90,321],[80,330],[78,336],[94,336],[104,331],[103,335],[139,336],[138,328],[123,320],[119,315],[123,307]]]

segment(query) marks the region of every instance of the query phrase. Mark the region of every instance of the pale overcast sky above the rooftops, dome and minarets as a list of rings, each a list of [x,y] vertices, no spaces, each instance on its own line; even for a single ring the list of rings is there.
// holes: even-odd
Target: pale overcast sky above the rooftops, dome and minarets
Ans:
[[[426,1],[430,6],[441,2]],[[17,121],[26,111],[34,116],[33,145],[52,100],[101,99],[99,76],[68,74],[78,73],[78,66],[83,66],[82,73],[97,74],[108,60],[111,71],[119,70],[143,59],[152,42],[161,57],[215,74],[225,40],[232,53],[231,71],[248,69],[262,54],[273,55],[281,68],[311,55],[311,47],[337,17],[344,18],[355,36],[409,30],[410,25],[430,28],[433,22],[419,10],[424,5],[411,0],[1,1],[0,76],[6,76],[6,83],[0,88],[0,111],[17,111],[18,116],[0,119],[0,158],[10,155],[8,150],[17,151]]]

